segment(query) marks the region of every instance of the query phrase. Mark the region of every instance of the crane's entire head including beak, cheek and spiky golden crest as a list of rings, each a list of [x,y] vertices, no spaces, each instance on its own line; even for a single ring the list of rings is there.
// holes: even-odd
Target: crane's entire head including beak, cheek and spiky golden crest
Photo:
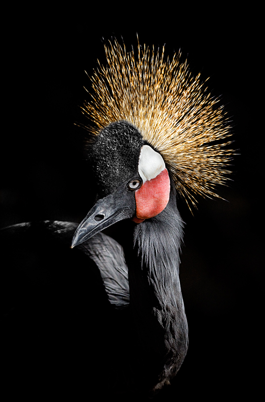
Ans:
[[[121,219],[141,224],[160,214],[171,182],[190,208],[198,194],[218,197],[215,186],[227,179],[233,151],[220,143],[231,134],[219,98],[180,54],[170,61],[164,51],[105,45],[107,65],[94,71],[92,100],[82,108],[92,123],[86,129],[100,199],[72,247]]]

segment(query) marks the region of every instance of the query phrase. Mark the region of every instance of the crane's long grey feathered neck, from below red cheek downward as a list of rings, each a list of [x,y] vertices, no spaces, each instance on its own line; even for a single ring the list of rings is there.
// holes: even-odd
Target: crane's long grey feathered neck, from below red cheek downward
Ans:
[[[183,222],[172,191],[161,214],[136,226],[135,255],[128,264],[135,325],[143,347],[158,366],[161,386],[178,371],[188,346],[179,281],[182,233]]]

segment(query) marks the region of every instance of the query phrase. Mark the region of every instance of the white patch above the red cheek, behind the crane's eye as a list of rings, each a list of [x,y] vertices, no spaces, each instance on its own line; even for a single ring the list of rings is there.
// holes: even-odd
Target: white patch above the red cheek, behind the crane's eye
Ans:
[[[165,168],[166,165],[162,156],[149,145],[144,145],[141,149],[138,165],[143,183],[157,177]]]

